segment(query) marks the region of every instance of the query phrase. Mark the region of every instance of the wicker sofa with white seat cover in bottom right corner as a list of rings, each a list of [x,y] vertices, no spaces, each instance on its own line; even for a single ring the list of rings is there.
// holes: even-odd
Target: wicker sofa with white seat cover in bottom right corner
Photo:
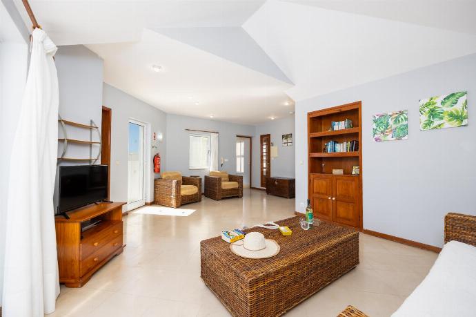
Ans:
[[[445,245],[435,264],[392,317],[474,316],[476,216],[448,213],[444,222]],[[339,316],[368,317],[352,306]]]

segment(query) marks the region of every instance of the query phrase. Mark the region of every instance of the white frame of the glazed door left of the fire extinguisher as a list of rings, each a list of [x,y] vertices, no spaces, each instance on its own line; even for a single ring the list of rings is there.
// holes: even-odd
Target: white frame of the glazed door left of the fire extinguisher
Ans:
[[[143,193],[142,199],[138,200],[137,202],[131,202],[126,204],[126,211],[131,211],[133,209],[137,209],[141,206],[144,206],[146,202],[150,200],[150,147],[151,147],[151,129],[150,123],[143,122],[139,119],[135,119],[130,117],[128,119],[128,124],[137,124],[139,126],[143,126]],[[129,135],[128,135],[129,138]],[[129,139],[128,139],[129,140]],[[128,151],[129,153],[129,151]],[[128,159],[129,160],[129,159]],[[129,180],[127,182],[129,186]],[[128,198],[129,199],[129,198]]]

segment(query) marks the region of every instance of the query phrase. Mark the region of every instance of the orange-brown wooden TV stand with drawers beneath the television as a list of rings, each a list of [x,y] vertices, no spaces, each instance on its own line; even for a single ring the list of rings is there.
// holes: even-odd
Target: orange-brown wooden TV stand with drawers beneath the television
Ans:
[[[66,287],[82,287],[92,274],[112,257],[122,253],[122,206],[125,202],[101,202],[68,211],[54,218],[58,251],[59,282]],[[81,232],[81,223],[101,220]]]

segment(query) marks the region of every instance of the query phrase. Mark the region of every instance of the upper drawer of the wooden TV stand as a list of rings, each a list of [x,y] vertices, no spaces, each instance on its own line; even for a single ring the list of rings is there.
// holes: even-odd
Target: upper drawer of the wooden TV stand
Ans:
[[[81,240],[81,260],[86,259],[90,254],[95,253],[111,240],[122,236],[122,227],[122,221],[105,221],[94,228],[84,231],[82,233],[83,240]]]

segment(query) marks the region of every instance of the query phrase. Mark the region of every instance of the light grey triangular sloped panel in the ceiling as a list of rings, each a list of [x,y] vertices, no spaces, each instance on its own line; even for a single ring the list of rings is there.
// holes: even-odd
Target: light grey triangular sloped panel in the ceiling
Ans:
[[[241,27],[155,28],[154,30],[228,61],[292,84],[292,81]]]

